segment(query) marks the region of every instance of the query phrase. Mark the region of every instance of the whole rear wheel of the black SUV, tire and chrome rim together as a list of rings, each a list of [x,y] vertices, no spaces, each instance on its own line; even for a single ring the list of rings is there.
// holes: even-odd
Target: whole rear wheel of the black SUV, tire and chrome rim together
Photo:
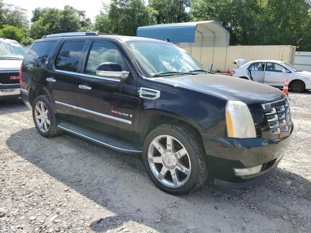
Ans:
[[[55,116],[52,103],[48,97],[37,96],[32,106],[35,128],[42,136],[54,137],[62,133],[57,128],[58,119]]]

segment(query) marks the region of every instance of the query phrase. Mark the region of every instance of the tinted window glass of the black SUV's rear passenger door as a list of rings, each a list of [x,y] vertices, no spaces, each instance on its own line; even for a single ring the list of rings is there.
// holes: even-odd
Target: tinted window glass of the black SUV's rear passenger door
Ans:
[[[56,57],[56,69],[77,72],[84,43],[85,41],[66,41]]]

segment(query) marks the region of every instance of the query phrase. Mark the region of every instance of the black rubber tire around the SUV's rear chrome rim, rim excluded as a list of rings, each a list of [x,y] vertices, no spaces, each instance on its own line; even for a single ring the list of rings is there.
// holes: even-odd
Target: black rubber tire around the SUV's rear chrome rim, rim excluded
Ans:
[[[44,103],[44,105],[47,107],[48,111],[49,111],[49,119],[50,119],[50,128],[49,130],[44,133],[42,132],[39,127],[37,126],[37,123],[36,123],[36,120],[35,120],[35,104],[38,102],[38,101],[41,101]],[[50,137],[51,134],[52,134],[52,131],[54,128],[56,128],[56,122],[55,122],[55,117],[52,116],[52,113],[53,113],[53,109],[51,108],[51,101],[45,97],[45,96],[37,96],[33,102],[33,119],[34,119],[34,123],[35,123],[35,128],[37,129],[37,131],[44,137]]]

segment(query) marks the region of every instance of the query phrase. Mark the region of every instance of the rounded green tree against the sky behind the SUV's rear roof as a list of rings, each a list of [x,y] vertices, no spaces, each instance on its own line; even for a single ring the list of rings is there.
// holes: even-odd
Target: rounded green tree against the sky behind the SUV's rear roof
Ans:
[[[64,10],[56,8],[36,8],[33,11],[34,23],[30,35],[38,39],[46,34],[89,31],[91,20],[86,18],[85,11],[79,11],[71,6]]]

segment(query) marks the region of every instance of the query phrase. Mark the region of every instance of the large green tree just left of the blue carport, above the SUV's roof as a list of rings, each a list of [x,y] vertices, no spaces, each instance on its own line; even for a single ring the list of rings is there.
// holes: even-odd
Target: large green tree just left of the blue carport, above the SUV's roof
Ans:
[[[139,26],[156,23],[156,14],[143,0],[112,0],[107,17],[112,33],[136,35]]]

